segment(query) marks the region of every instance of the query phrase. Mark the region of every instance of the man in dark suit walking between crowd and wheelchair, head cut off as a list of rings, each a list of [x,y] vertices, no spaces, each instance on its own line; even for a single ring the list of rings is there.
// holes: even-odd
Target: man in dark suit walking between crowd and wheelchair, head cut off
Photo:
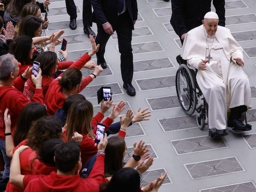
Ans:
[[[137,20],[137,0],[91,0],[93,7],[92,21],[97,23],[98,34],[95,42],[100,44],[96,53],[97,64],[106,68],[105,47],[110,36],[116,31],[119,52],[121,54],[121,75],[123,87],[128,95],[136,94],[132,86],[133,55],[131,48],[132,30]]]

